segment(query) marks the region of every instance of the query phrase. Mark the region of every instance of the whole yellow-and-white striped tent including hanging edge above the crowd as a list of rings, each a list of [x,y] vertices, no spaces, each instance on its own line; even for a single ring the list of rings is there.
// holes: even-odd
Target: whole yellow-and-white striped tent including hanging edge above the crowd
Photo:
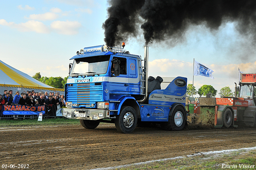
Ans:
[[[60,94],[64,94],[64,89],[48,86],[0,60],[0,94],[3,94],[4,90],[12,90],[14,92],[13,96],[16,91],[26,93],[28,90],[34,90],[35,92],[60,92]]]

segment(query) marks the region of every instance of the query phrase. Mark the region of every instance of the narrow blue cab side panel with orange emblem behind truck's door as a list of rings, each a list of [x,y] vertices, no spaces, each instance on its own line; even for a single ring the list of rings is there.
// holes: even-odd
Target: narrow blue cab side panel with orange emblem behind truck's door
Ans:
[[[139,94],[140,76],[138,76],[138,63],[136,58],[128,59],[129,94]]]

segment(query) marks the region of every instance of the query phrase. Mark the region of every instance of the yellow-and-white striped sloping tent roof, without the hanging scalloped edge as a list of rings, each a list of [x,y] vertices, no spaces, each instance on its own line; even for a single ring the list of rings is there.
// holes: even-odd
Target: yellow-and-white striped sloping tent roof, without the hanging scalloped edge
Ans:
[[[21,72],[12,66],[2,62],[0,60],[0,86],[9,87],[23,87],[23,88],[34,88],[34,89],[45,89],[45,90],[58,90],[64,91],[64,89],[53,88],[44,84],[28,74]]]

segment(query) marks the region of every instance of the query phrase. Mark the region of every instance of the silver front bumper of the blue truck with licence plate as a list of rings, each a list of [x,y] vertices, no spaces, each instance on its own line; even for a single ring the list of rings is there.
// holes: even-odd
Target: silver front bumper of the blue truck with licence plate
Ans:
[[[109,118],[110,113],[104,109],[63,108],[62,116],[69,119],[99,120]]]

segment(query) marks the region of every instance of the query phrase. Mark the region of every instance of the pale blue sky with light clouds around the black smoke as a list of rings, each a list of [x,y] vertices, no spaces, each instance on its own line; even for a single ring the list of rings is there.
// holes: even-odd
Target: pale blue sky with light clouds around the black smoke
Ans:
[[[69,59],[76,51],[104,43],[106,0],[3,1],[0,6],[0,60],[33,76],[68,76]],[[182,40],[153,42],[149,46],[149,75],[184,76],[192,84],[193,58],[212,69],[214,80],[194,76],[194,86],[212,85],[218,92],[238,83],[242,72],[256,72],[255,45],[250,35],[226,22],[218,30],[190,26]],[[143,56],[142,31],[126,42],[126,50]],[[217,94],[216,97],[218,97]]]

